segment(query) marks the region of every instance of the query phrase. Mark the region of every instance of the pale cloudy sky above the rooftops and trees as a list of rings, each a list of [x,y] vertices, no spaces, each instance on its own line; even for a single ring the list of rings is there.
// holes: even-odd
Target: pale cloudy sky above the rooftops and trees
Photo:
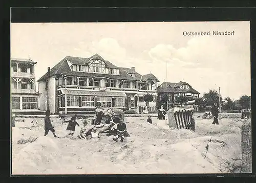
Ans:
[[[96,53],[141,75],[152,73],[158,84],[185,81],[201,97],[219,87],[223,98],[251,95],[249,21],[11,23],[11,57],[36,61],[36,80],[66,56]]]

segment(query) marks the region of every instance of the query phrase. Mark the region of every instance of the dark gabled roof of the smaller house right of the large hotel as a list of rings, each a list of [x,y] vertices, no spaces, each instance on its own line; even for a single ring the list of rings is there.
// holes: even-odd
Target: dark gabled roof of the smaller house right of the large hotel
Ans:
[[[195,90],[191,85],[186,82],[179,82],[179,83],[170,83],[170,82],[163,82],[157,87],[158,93],[166,93],[166,84],[167,84],[167,92],[168,93],[192,93],[192,94],[200,94],[197,90]],[[180,87],[182,84],[187,84],[190,86],[190,89],[176,89]]]

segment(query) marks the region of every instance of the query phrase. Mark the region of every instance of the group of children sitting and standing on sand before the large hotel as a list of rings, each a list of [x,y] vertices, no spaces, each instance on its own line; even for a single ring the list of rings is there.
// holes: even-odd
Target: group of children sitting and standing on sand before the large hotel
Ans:
[[[94,124],[90,125],[85,120],[83,121],[83,126],[80,130],[80,133],[77,135],[79,139],[89,139],[91,141],[99,141],[100,140],[100,133],[106,133],[106,135],[114,135],[112,138],[113,141],[118,142],[118,139],[120,138],[120,141],[123,142],[124,138],[126,136],[130,136],[130,134],[127,132],[126,124],[123,122],[123,118],[118,117],[118,122],[116,128],[114,126],[116,123],[112,119],[112,115],[110,113],[105,113],[105,116],[107,120],[104,121],[103,124]],[[79,127],[80,125],[76,121],[77,115],[74,115],[70,120],[65,121],[68,122],[67,131],[69,132],[67,136],[73,136],[75,132],[76,125]],[[100,119],[101,120],[101,119]],[[115,120],[116,121],[116,120]],[[55,138],[58,138],[58,136],[55,134],[55,129],[51,123],[50,119],[50,110],[46,111],[46,117],[45,117],[45,135],[48,134],[49,131],[52,131]]]

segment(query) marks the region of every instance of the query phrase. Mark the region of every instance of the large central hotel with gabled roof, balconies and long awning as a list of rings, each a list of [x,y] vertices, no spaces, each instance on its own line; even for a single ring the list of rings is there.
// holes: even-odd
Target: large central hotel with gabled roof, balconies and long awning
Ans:
[[[157,82],[153,74],[140,75],[135,67],[118,67],[98,54],[90,58],[67,56],[38,80],[41,110],[51,113],[92,112],[116,107],[141,112],[143,95],[155,96],[148,111],[156,111]]]

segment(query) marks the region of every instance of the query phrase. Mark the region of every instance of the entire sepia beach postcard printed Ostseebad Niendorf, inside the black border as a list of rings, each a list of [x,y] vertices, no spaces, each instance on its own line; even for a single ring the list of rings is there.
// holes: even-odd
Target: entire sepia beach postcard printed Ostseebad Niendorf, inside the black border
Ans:
[[[11,23],[12,175],[251,173],[250,21]]]

